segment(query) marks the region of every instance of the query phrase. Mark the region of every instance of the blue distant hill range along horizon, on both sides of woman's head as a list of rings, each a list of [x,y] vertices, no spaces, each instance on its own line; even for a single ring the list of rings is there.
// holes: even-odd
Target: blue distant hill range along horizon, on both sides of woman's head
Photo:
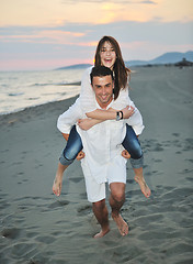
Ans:
[[[189,62],[193,62],[193,52],[186,52],[186,53],[179,53],[179,52],[171,52],[171,53],[164,53],[161,56],[150,59],[150,61],[128,61],[125,62],[125,65],[127,67],[130,66],[145,66],[145,65],[160,65],[160,64],[175,64],[185,58]],[[81,69],[81,68],[88,68],[92,66],[91,64],[75,64],[66,67],[56,68],[56,70],[60,69]]]

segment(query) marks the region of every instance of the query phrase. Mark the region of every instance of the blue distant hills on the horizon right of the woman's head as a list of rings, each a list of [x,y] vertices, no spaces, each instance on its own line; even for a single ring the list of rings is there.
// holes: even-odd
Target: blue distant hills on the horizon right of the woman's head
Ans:
[[[179,53],[171,52],[164,53],[161,56],[154,58],[151,61],[129,61],[125,62],[127,66],[140,66],[140,65],[159,65],[159,64],[175,64],[181,62],[183,58],[193,62],[193,52]]]

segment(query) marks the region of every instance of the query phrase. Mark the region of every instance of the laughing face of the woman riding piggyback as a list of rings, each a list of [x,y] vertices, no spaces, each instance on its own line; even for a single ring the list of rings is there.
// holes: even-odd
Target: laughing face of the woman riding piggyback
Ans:
[[[113,45],[110,42],[104,42],[100,51],[101,65],[113,69],[116,61],[116,53]]]

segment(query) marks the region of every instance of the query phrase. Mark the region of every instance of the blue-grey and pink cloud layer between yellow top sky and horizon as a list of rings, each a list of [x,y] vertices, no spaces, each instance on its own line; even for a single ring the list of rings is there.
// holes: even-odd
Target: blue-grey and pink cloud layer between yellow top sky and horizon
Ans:
[[[164,52],[193,50],[192,29],[193,22],[160,21],[0,28],[0,57],[4,65],[20,59],[21,68],[24,61],[29,61],[27,65],[33,62],[32,67],[36,61],[42,68],[91,63],[99,40],[107,34],[118,41],[125,61],[151,59]]]

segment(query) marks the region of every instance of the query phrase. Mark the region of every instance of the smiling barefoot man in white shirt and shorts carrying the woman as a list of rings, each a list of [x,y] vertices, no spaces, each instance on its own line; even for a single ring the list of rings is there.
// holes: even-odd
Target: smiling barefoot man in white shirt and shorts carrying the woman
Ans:
[[[112,70],[104,66],[94,67],[91,72],[91,85],[95,94],[98,108],[111,108],[114,88]],[[82,113],[79,101],[77,101],[59,117],[58,129],[63,134],[67,134],[66,138],[68,139],[71,125],[82,118],[87,117]],[[101,231],[94,238],[102,238],[110,231],[109,212],[105,205],[106,182],[111,191],[109,201],[112,218],[116,222],[120,233],[126,235],[128,226],[120,213],[125,201],[126,185],[126,158],[122,156],[122,142],[126,133],[125,120],[106,120],[87,131],[79,127],[77,127],[77,130],[81,136],[86,154],[84,158],[81,160],[81,166],[86,179],[88,200],[92,202],[94,216],[101,224]]]

